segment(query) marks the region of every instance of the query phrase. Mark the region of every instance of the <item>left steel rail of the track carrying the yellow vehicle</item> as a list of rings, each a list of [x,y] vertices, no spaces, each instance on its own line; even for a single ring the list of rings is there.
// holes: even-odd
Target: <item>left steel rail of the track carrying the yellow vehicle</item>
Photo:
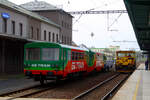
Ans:
[[[83,97],[84,95],[86,95],[86,94],[92,92],[92,91],[95,90],[96,88],[98,88],[98,87],[104,85],[106,82],[108,82],[108,81],[114,79],[115,77],[117,77],[117,76],[119,76],[119,75],[120,75],[120,73],[119,73],[119,74],[116,74],[116,75],[113,75],[112,77],[110,77],[110,78],[104,80],[103,82],[100,82],[99,84],[97,84],[97,85],[95,85],[94,87],[88,89],[87,91],[85,91],[85,92],[83,92],[83,93],[81,93],[81,94],[75,96],[75,97],[72,98],[71,100],[76,100],[76,99],[78,99],[78,98]]]

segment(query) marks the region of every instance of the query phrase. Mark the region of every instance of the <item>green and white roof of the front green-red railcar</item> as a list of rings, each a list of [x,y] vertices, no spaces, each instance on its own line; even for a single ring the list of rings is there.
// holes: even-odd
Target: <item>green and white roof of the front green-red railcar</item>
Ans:
[[[52,42],[43,42],[43,41],[39,41],[39,42],[32,42],[32,43],[27,43],[25,45],[25,48],[28,47],[36,47],[36,46],[58,46],[58,47],[62,47],[62,48],[69,48],[69,49],[76,49],[76,50],[83,50],[83,51],[90,51],[88,48],[84,48],[84,47],[75,47],[75,46],[69,46],[69,45],[64,45],[64,44],[58,44],[58,43],[52,43]]]

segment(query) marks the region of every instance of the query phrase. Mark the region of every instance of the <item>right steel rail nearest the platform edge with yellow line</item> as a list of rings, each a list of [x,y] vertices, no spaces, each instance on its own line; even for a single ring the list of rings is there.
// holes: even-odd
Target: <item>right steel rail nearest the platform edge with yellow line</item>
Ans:
[[[115,85],[106,95],[104,95],[101,100],[108,100],[108,98],[118,89],[118,87],[129,77],[129,74],[122,79],[117,85]]]

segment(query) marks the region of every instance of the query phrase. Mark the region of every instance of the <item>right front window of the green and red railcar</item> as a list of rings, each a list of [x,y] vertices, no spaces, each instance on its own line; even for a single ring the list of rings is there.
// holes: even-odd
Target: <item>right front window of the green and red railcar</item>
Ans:
[[[42,60],[58,61],[59,60],[59,48],[43,48]]]

